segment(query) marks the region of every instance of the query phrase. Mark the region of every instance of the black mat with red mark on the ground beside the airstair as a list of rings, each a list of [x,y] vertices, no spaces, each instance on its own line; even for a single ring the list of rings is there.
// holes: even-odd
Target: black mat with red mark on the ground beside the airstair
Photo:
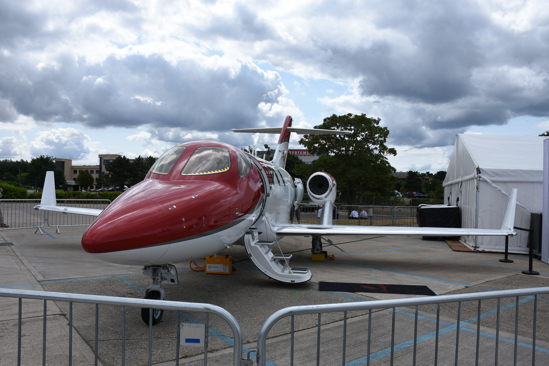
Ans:
[[[373,294],[427,295],[435,296],[427,286],[384,285],[376,283],[323,282],[318,283],[318,291],[371,292]]]

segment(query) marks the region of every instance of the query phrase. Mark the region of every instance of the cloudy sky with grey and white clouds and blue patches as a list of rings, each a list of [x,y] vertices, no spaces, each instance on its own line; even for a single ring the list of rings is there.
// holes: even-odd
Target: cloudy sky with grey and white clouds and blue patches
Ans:
[[[366,113],[397,170],[549,129],[544,1],[0,1],[0,158],[97,164]],[[298,136],[290,147],[299,148]],[[427,147],[427,148],[424,148]]]

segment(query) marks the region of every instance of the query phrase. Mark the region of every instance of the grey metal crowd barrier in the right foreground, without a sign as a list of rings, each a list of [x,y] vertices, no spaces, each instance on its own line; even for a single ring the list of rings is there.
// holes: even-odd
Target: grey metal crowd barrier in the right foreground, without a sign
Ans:
[[[439,336],[442,334],[446,334],[451,330],[456,331],[456,341],[455,341],[455,348],[452,348],[449,350],[450,357],[453,358],[452,361],[454,361],[455,365],[458,364],[459,359],[459,351],[460,351],[460,330],[464,330],[468,333],[476,334],[476,360],[475,365],[478,366],[479,364],[479,343],[480,343],[480,324],[481,319],[484,319],[488,316],[493,316],[494,314],[497,317],[496,320],[496,329],[495,329],[495,336],[491,334],[483,334],[483,336],[487,336],[488,339],[495,339],[495,364],[498,364],[498,347],[500,345],[500,312],[511,307],[516,307],[515,309],[515,315],[514,315],[514,365],[517,364],[517,345],[518,342],[518,322],[519,322],[519,303],[524,302],[525,299],[519,301],[519,297],[521,296],[533,296],[534,300],[534,310],[533,310],[533,320],[531,320],[532,324],[532,342],[531,345],[525,345],[521,344],[521,346],[526,346],[532,348],[531,352],[531,361],[532,365],[535,365],[535,351],[536,351],[536,314],[537,314],[537,296],[542,294],[548,294],[549,293],[549,287],[543,287],[543,288],[532,288],[532,289],[519,289],[519,290],[505,290],[505,291],[490,291],[490,292],[477,292],[473,294],[459,294],[459,295],[444,295],[444,296],[432,296],[432,297],[416,297],[416,298],[410,298],[410,299],[398,299],[398,300],[378,300],[378,301],[364,301],[364,302],[351,302],[351,303],[334,303],[334,304],[326,304],[326,305],[308,305],[308,306],[292,306],[287,307],[284,309],[281,309],[277,311],[276,313],[272,314],[266,322],[262,325],[261,330],[259,332],[259,337],[257,339],[257,348],[259,350],[259,366],[266,366],[266,358],[267,358],[267,335],[273,325],[275,325],[279,320],[285,318],[285,317],[292,317],[291,320],[291,331],[290,331],[290,366],[293,366],[294,364],[294,324],[295,324],[295,316],[304,315],[304,314],[318,314],[318,325],[317,325],[317,342],[316,342],[316,365],[319,366],[321,362],[321,314],[322,313],[334,313],[334,312],[343,312],[343,337],[341,337],[341,359],[342,363],[341,365],[346,364],[345,360],[345,352],[346,352],[346,341],[347,341],[347,319],[348,315],[347,313],[350,311],[368,311],[368,326],[367,329],[360,328],[360,331],[362,334],[366,335],[367,333],[367,347],[366,348],[366,356],[361,357],[358,359],[355,359],[355,361],[352,361],[351,364],[366,364],[369,365],[371,361],[371,355],[373,353],[383,353],[389,354],[390,352],[390,364],[393,365],[394,362],[394,354],[395,354],[395,313],[405,313],[407,315],[410,315],[410,317],[407,317],[409,319],[414,319],[413,325],[405,325],[404,327],[400,327],[399,329],[399,335],[400,333],[404,332],[405,329],[413,329],[414,335],[413,335],[413,344],[412,341],[405,342],[405,346],[412,346],[413,345],[413,365],[416,365],[416,357],[417,357],[417,345],[418,345],[418,338],[419,342],[423,342],[426,339],[426,335],[421,335],[418,337],[418,306],[421,305],[436,305],[436,320],[434,319],[428,319],[425,317],[419,317],[422,320],[428,319],[430,322],[436,323],[436,330],[434,332],[430,332],[427,334],[430,338],[435,338],[435,349],[434,354],[429,354],[429,362],[425,363],[424,361],[421,362],[422,364],[432,364],[431,358],[434,358],[434,365],[436,366],[438,362],[440,361],[441,356],[446,356],[444,352],[448,349],[447,347],[443,347],[442,349],[439,348]],[[514,298],[514,301],[505,305],[501,306],[501,299],[505,299],[507,297]],[[494,309],[490,312],[481,313],[481,302],[483,300],[489,300],[489,299],[497,299],[497,309]],[[529,301],[531,299],[528,299]],[[461,313],[462,313],[462,302],[464,301],[478,301],[477,304],[477,316],[467,319],[467,320],[461,320]],[[456,303],[457,302],[457,320],[455,324],[449,324],[446,322],[440,321],[440,305],[443,303]],[[413,307],[415,306],[415,313],[411,314],[409,312],[400,311],[397,309],[397,307]],[[372,338],[372,310],[373,309],[391,309],[392,310],[392,324],[391,324],[391,342],[390,342],[390,348],[388,345],[384,344],[382,345],[382,350],[372,350],[372,339],[377,339],[374,337]],[[434,310],[434,309],[433,309]],[[520,318],[522,321],[526,324],[530,323],[530,319],[524,319],[524,315]],[[447,321],[447,320],[446,320]],[[477,323],[476,331],[469,328],[464,328],[467,325]],[[440,324],[444,325],[443,329],[440,329]],[[429,323],[430,324],[430,323]],[[375,328],[374,328],[375,329]],[[386,329],[386,328],[385,328]],[[384,334],[387,335],[387,331],[383,330]],[[357,335],[357,331],[355,331],[354,335]],[[333,330],[330,331],[330,336],[332,336],[332,339],[335,337],[333,336]],[[362,341],[362,339],[361,339]],[[511,340],[507,340],[509,342]],[[511,341],[512,342],[512,341]],[[361,342],[361,345],[363,345],[363,342]],[[377,344],[379,347],[380,345]],[[402,346],[399,345],[399,346]],[[277,346],[278,348],[280,345]],[[473,348],[473,347],[470,347]],[[402,349],[402,347],[398,347],[398,349]],[[397,349],[397,350],[398,350]],[[372,352],[375,351],[375,352]],[[424,356],[422,354],[422,356]],[[484,355],[483,355],[484,357]],[[524,356],[523,356],[524,357]],[[273,359],[270,357],[271,362],[277,362],[276,359]],[[544,361],[544,364],[546,361]],[[408,363],[409,364],[409,363]],[[444,360],[444,364],[450,364],[450,360],[446,359]]]

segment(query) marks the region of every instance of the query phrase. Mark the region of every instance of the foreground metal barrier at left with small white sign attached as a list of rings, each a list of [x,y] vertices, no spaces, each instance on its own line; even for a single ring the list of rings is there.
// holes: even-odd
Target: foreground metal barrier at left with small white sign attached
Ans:
[[[166,309],[177,312],[177,324],[176,331],[176,360],[175,364],[179,365],[179,345],[180,345],[180,324],[181,324],[181,312],[193,311],[206,314],[206,321],[204,323],[204,365],[208,362],[208,334],[209,334],[209,314],[216,314],[221,317],[231,328],[234,339],[234,352],[233,352],[233,366],[240,365],[240,358],[242,357],[242,330],[237,320],[231,313],[223,309],[222,307],[206,304],[206,303],[194,303],[194,302],[177,302],[177,301],[160,301],[160,300],[145,300],[145,299],[131,299],[126,297],[114,297],[114,296],[97,296],[97,295],[81,295],[81,294],[65,294],[63,292],[46,292],[46,291],[29,291],[29,290],[13,290],[0,288],[1,297],[14,297],[19,299],[19,322],[18,322],[18,353],[17,353],[17,365],[21,365],[21,319],[22,319],[22,303],[23,299],[36,299],[44,301],[44,313],[43,313],[43,335],[42,335],[42,365],[46,365],[46,313],[47,313],[47,301],[64,301],[69,302],[69,354],[68,364],[72,365],[72,303],[89,303],[94,304],[95,307],[95,342],[93,347],[95,364],[98,364],[98,339],[99,339],[99,305],[114,305],[121,306],[121,335],[122,335],[122,366],[126,364],[126,307],[140,307],[149,308],[149,366],[152,364],[152,342],[153,342],[153,308],[154,309]],[[5,362],[5,360],[4,360]],[[14,364],[12,362],[11,364]]]

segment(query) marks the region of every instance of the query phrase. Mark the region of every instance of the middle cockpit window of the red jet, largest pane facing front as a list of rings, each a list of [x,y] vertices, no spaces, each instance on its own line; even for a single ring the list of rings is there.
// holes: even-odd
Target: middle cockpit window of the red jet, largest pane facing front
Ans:
[[[201,176],[228,171],[231,168],[231,155],[224,148],[198,148],[189,157],[182,176]]]

